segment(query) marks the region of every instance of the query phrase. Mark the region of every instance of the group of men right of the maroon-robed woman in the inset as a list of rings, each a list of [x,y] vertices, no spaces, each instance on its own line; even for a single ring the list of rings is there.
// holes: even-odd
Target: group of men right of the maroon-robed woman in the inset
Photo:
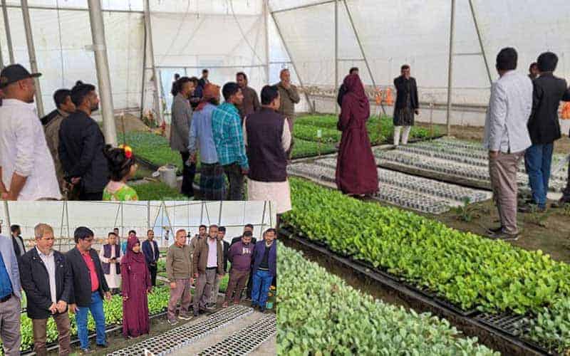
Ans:
[[[199,227],[199,234],[188,242],[185,229],[176,231],[175,242],[166,256],[167,279],[170,283],[167,320],[171,325],[181,320],[190,320],[216,308],[219,283],[229,269],[229,282],[223,308],[230,300],[240,303],[246,286],[247,298],[252,300],[254,308],[263,312],[269,295],[269,287],[276,280],[277,243],[275,229],[264,231],[264,239],[258,241],[252,237],[253,226],[244,227],[242,236],[224,241],[224,226],[210,225]],[[250,277],[252,276],[252,278]],[[192,297],[190,288],[195,284]],[[177,315],[177,305],[180,310]],[[192,304],[192,315],[190,305]]]

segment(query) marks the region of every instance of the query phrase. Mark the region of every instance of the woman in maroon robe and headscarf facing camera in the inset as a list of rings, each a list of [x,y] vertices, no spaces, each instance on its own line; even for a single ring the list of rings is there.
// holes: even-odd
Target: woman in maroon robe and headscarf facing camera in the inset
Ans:
[[[120,262],[123,278],[123,336],[138,337],[148,334],[149,316],[147,293],[150,293],[150,273],[140,241],[132,237],[127,242],[127,253]]]

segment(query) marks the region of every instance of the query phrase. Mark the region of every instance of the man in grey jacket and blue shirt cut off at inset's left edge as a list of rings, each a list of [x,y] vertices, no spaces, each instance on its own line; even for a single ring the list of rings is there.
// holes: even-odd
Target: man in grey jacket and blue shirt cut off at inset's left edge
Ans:
[[[20,355],[22,298],[20,271],[12,241],[0,235],[0,338],[4,355]]]

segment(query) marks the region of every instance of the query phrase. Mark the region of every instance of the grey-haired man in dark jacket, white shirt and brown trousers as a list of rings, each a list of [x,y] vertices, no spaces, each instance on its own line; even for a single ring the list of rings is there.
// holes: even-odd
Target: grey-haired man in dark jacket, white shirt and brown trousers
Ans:
[[[34,229],[36,247],[20,260],[22,288],[28,300],[27,313],[32,320],[33,344],[36,354],[46,355],[46,326],[53,316],[59,333],[59,353],[71,352],[69,303],[73,280],[65,256],[53,247],[53,229],[38,224]]]

